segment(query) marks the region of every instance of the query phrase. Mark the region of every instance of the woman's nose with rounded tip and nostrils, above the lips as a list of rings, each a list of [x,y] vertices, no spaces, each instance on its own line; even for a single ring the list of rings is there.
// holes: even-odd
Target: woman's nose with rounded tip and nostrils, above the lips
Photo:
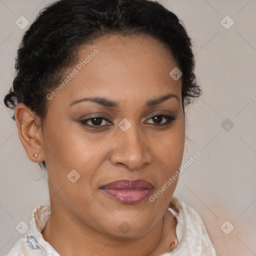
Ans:
[[[143,131],[135,129],[135,125],[126,130],[118,130],[113,143],[114,149],[110,155],[113,165],[121,165],[129,170],[142,169],[152,161],[152,153],[148,146],[147,137]]]

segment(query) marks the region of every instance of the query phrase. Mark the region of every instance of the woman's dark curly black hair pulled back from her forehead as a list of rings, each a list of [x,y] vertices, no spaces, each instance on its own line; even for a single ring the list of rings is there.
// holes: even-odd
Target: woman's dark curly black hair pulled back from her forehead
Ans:
[[[44,7],[25,31],[15,59],[15,78],[5,106],[24,103],[43,122],[46,95],[78,57],[78,47],[102,35],[150,35],[170,50],[182,72],[182,104],[200,96],[191,39],[183,22],[152,0],[59,0]],[[14,114],[12,119],[15,120]],[[45,168],[45,162],[40,167]]]

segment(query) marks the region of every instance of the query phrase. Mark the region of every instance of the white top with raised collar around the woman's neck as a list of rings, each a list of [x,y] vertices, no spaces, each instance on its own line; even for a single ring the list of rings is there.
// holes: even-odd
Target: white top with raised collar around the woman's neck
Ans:
[[[175,196],[172,196],[167,209],[177,219],[178,244],[172,252],[159,256],[216,256],[204,223],[195,209],[186,206]],[[49,203],[35,207],[31,215],[30,228],[17,240],[6,256],[60,256],[41,234],[49,216]]]

